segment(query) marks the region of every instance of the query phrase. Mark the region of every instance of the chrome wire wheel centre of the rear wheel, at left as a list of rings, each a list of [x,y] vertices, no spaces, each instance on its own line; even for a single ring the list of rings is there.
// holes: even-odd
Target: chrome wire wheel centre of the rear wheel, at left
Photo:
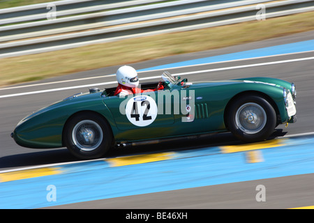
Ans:
[[[93,151],[103,141],[103,130],[94,121],[80,121],[73,128],[72,139],[82,151]]]

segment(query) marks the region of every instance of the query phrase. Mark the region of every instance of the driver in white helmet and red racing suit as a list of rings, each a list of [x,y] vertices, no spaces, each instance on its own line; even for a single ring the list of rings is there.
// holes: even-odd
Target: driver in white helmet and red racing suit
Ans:
[[[160,82],[156,89],[138,89],[137,86],[140,82],[137,77],[137,72],[134,68],[130,66],[121,66],[121,68],[117,70],[116,77],[119,84],[116,91],[114,92],[114,95],[124,96],[133,93],[163,90],[163,85],[160,84]]]

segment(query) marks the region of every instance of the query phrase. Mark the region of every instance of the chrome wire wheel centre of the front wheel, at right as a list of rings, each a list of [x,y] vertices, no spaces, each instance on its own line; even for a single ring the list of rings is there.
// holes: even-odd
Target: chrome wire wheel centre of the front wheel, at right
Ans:
[[[255,134],[264,128],[267,115],[264,109],[256,103],[246,103],[237,110],[235,121],[241,131]]]

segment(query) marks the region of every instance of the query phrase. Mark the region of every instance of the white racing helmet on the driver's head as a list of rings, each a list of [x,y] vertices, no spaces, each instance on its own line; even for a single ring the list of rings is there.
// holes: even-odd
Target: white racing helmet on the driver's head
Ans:
[[[136,88],[140,83],[137,77],[137,72],[130,66],[121,66],[117,70],[117,81],[119,84],[128,86],[130,88]]]

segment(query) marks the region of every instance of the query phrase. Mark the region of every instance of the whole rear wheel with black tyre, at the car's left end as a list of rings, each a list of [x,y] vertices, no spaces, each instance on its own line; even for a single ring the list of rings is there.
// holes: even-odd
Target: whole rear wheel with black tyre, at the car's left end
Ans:
[[[91,112],[73,116],[63,130],[65,146],[81,160],[103,157],[112,146],[112,139],[107,122]]]

